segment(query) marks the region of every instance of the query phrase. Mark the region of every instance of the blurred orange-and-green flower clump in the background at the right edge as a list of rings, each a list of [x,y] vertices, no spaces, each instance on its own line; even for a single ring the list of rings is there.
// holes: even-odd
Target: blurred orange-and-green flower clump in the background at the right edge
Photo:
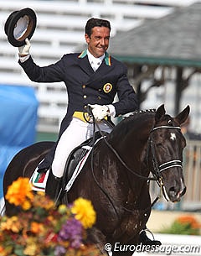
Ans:
[[[201,223],[191,215],[183,215],[175,219],[170,227],[162,229],[162,233],[200,235]]]

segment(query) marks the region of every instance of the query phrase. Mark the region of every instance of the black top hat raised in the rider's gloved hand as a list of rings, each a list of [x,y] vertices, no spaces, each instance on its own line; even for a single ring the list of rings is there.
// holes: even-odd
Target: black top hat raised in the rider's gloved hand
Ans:
[[[8,41],[15,47],[22,46],[25,39],[31,39],[36,28],[36,14],[30,8],[11,13],[5,23],[4,31]]]

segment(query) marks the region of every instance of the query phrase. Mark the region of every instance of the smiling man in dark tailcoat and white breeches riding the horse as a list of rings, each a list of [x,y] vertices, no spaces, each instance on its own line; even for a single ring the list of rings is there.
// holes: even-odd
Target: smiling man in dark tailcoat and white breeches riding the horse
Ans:
[[[72,149],[92,137],[93,124],[83,118],[85,107],[90,104],[100,122],[102,131],[111,132],[101,119],[118,117],[137,109],[137,95],[126,76],[126,66],[107,53],[111,24],[100,18],[90,18],[85,25],[86,50],[64,55],[55,64],[39,67],[29,54],[30,42],[18,48],[19,65],[28,77],[36,82],[64,81],[68,91],[68,109],[61,123],[59,138],[54,148],[39,165],[39,171],[49,171],[47,184],[56,190],[47,190],[51,198],[59,193],[64,165]],[[118,96],[118,101],[114,98]]]

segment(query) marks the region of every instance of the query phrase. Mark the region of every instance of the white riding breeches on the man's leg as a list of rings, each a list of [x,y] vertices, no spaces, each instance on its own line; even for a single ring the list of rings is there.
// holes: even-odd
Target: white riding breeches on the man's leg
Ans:
[[[100,123],[101,131],[111,133],[111,128],[106,123]],[[98,131],[98,128],[95,128]],[[52,172],[56,177],[62,177],[64,174],[64,166],[70,152],[79,146],[86,139],[93,136],[93,123],[85,123],[78,118],[73,118],[70,125],[64,133],[62,133],[54,154],[52,163]]]

